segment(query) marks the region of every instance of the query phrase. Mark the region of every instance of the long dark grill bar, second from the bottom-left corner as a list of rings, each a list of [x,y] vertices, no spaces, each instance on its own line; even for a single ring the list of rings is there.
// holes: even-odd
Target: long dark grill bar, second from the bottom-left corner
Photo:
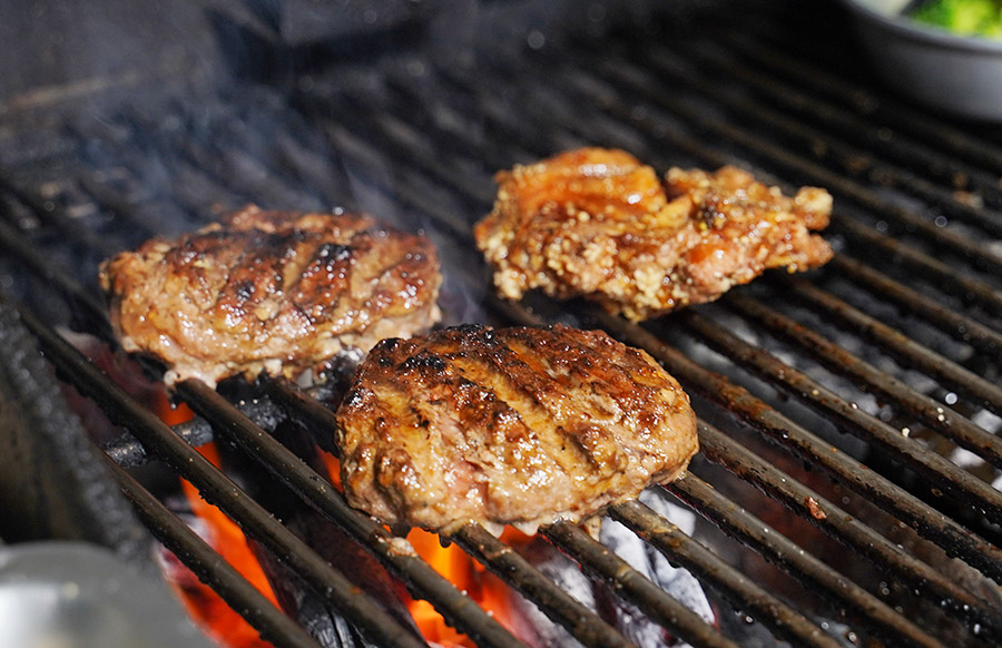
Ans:
[[[341,572],[272,518],[261,504],[218,471],[194,448],[178,438],[157,416],[108,380],[80,352],[33,315],[22,312],[24,323],[46,350],[48,359],[80,392],[101,406],[112,422],[127,428],[150,452],[195,484],[206,500],[218,505],[243,529],[281,557],[316,589],[333,609],[352,619],[372,641],[392,647],[424,646],[393,617],[358,591]]]

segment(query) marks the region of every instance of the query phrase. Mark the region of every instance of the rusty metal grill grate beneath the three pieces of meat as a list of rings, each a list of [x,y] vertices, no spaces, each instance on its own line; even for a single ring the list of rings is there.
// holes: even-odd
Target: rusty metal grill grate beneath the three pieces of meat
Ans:
[[[760,21],[713,16],[687,26],[689,36],[667,26],[670,38],[608,35],[514,59],[441,66],[407,52],[379,65],[318,65],[289,89],[237,84],[167,101],[157,118],[124,101],[51,130],[13,129],[0,158],[0,246],[31,271],[19,293],[26,311],[43,315],[26,321],[65,380],[130,433],[110,456],[130,465],[148,452],[169,464],[367,639],[420,644],[186,440],[234,442],[479,646],[518,646],[269,434],[289,419],[324,445],[332,413],[311,395],[264,381],[258,401],[237,405],[187,382],[179,396],[203,418],[170,429],[53,328],[72,320],[109,337],[97,263],[205,222],[215,203],[342,205],[425,227],[444,259],[443,306],[458,322],[600,326],[648,350],[694,395],[700,459],[667,491],[713,528],[687,536],[639,502],[609,517],[689,569],[721,609],[795,646],[992,645],[1002,638],[1002,493],[992,485],[1002,469],[998,132],[885,96],[846,73],[858,61],[837,30],[805,30],[811,11],[772,4],[755,8]],[[578,303],[485,295],[487,274],[469,249],[471,224],[493,199],[491,174],[583,144],[623,147],[659,169],[738,163],[787,190],[825,186],[836,198],[829,238],[838,254],[807,278],[764,277],[642,326]],[[0,262],[0,278],[21,281],[16,273]],[[56,306],[46,301],[52,293],[62,297]],[[792,470],[802,464],[807,472]],[[160,540],[266,638],[314,645],[125,470],[110,471]],[[834,541],[836,558],[813,546],[813,529]],[[541,532],[694,646],[776,645],[745,636],[727,611],[720,627],[706,624],[573,526]],[[448,540],[582,645],[632,645],[484,529]]]

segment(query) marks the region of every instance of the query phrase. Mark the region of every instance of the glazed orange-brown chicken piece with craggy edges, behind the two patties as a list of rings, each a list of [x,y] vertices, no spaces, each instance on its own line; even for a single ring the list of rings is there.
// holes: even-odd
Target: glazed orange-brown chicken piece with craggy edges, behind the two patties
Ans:
[[[583,148],[497,175],[477,245],[508,298],[531,288],[583,295],[639,321],[709,302],[766,268],[832,258],[832,197],[784,196],[747,171],[655,170],[621,150]]]

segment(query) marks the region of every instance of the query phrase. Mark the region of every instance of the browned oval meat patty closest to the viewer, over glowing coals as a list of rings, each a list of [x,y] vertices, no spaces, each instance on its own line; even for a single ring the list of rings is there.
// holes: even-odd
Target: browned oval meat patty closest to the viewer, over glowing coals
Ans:
[[[577,522],[697,450],[689,399],[654,359],[560,325],[384,340],[337,421],[348,502],[430,530]]]

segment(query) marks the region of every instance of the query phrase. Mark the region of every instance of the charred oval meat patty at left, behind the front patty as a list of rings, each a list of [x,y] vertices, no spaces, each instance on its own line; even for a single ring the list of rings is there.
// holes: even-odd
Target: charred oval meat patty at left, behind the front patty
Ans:
[[[361,214],[248,206],[119,254],[100,281],[122,347],[164,361],[167,384],[295,376],[440,317],[432,243]]]

